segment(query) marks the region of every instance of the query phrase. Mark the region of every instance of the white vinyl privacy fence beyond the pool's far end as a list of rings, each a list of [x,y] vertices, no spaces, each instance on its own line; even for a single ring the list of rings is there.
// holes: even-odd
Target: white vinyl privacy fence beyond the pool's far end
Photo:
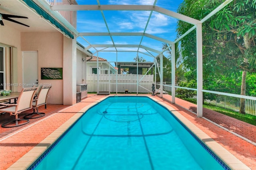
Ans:
[[[97,92],[98,81],[97,74],[87,74],[86,84],[88,92]],[[117,86],[116,86],[117,80]],[[154,75],[133,75],[133,74],[100,74],[99,75],[99,91],[109,91],[110,93],[150,93],[152,91],[152,83],[154,83]]]

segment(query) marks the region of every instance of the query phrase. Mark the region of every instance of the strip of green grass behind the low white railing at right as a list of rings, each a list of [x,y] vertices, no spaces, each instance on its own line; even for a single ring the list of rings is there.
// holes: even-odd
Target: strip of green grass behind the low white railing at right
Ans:
[[[192,100],[192,99],[185,99],[185,100],[196,104],[195,100]],[[206,104],[206,103],[203,104],[203,107],[256,126],[256,116],[254,116],[254,115],[250,115],[250,114],[244,115],[244,114],[241,114],[241,113],[238,113],[235,111],[231,111],[231,110],[224,109],[221,107],[216,107],[214,105],[210,105],[210,104]]]

